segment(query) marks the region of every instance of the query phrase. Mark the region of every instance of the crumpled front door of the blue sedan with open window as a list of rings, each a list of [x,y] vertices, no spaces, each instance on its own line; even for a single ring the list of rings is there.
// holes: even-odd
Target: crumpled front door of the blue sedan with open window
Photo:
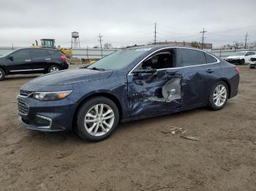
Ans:
[[[181,73],[175,49],[149,55],[127,75],[131,117],[170,113],[181,106]]]

